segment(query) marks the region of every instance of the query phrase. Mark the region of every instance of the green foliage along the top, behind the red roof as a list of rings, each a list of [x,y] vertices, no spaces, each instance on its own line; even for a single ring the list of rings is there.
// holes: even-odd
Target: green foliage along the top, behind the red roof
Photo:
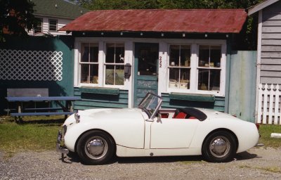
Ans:
[[[154,8],[249,8],[262,0],[72,0],[90,10]]]

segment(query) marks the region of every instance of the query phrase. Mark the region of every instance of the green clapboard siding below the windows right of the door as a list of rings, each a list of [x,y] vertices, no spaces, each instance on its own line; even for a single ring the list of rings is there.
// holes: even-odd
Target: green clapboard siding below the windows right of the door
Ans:
[[[178,94],[177,94],[178,95]],[[193,108],[208,108],[218,111],[224,111],[225,106],[225,98],[214,96],[214,101],[195,101],[192,98],[192,101],[181,98],[177,96],[176,98],[171,98],[171,94],[162,94],[163,103],[162,108],[185,108],[185,107],[193,107]],[[188,96],[188,95],[182,95]],[[199,95],[198,95],[199,96]],[[204,99],[204,98],[202,98]]]

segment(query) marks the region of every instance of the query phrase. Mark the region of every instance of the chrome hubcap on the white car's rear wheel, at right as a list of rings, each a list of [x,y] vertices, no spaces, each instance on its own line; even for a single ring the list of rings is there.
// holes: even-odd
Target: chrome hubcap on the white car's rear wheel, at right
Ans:
[[[226,155],[230,150],[230,143],[228,139],[223,139],[223,137],[216,137],[211,141],[210,144],[211,153],[217,158],[221,158]]]

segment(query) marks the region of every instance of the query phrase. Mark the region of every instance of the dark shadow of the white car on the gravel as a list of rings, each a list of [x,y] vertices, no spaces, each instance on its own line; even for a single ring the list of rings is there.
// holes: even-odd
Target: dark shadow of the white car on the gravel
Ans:
[[[254,158],[260,158],[256,154],[249,153],[247,151],[242,153],[237,153],[233,161],[239,160],[250,160]],[[61,159],[60,159],[61,160]],[[79,156],[77,153],[70,152],[65,158],[63,159],[65,163],[81,163]],[[130,163],[161,163],[161,162],[186,162],[186,163],[193,163],[193,162],[205,162],[202,155],[189,155],[189,156],[162,156],[162,157],[133,157],[133,158],[119,158],[115,157],[112,158],[110,162],[107,164],[130,164]]]

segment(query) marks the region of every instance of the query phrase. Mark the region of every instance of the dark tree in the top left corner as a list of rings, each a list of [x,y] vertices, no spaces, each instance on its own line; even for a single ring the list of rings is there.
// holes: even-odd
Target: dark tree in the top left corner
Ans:
[[[4,33],[25,36],[37,25],[33,7],[30,0],[0,0],[0,41],[5,40]]]

